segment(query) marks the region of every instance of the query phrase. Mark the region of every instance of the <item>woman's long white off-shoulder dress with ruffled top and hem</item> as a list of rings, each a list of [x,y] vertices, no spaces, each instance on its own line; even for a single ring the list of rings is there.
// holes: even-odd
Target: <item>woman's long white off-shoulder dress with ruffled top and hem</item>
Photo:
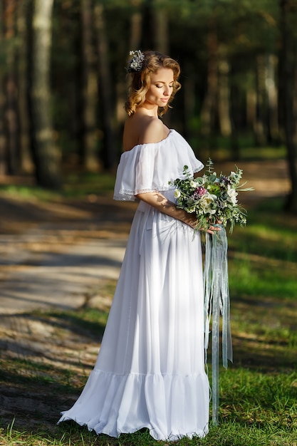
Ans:
[[[169,182],[184,165],[203,167],[175,130],[136,145],[120,158],[114,198],[158,190],[174,201]],[[140,202],[95,368],[59,422],[113,437],[142,427],[156,440],[206,435],[202,282],[199,233]]]

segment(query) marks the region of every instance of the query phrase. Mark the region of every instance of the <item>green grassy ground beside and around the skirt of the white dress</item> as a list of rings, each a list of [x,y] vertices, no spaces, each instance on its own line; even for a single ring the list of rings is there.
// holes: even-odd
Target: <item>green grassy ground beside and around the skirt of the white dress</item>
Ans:
[[[183,438],[177,445],[297,446],[297,219],[283,214],[282,205],[281,199],[259,203],[249,209],[247,227],[229,236],[234,364],[220,373],[219,426],[211,424],[204,439]],[[101,291],[112,296],[114,286],[108,281]],[[152,440],[147,430],[115,439],[94,435],[73,422],[56,426],[59,410],[77,398],[95,362],[95,353],[88,361],[83,356],[83,346],[98,344],[107,313],[86,305],[80,311],[27,317],[55,328],[53,355],[2,356],[0,445],[167,444]],[[66,354],[69,339],[73,351]],[[61,358],[55,353],[59,345]],[[82,353],[75,351],[78,345]],[[16,401],[9,413],[6,400]]]

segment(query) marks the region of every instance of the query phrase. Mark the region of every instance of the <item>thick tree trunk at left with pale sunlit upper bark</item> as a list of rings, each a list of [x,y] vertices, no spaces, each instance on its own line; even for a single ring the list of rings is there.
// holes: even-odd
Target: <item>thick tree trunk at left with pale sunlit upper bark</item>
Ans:
[[[51,15],[53,0],[35,0],[31,107],[38,185],[61,187],[60,153],[53,141],[51,121]]]

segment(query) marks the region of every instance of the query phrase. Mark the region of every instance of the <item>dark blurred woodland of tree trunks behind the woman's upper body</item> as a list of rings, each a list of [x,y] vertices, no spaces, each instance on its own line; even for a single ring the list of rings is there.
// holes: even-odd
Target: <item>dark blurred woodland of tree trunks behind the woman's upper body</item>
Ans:
[[[296,0],[1,0],[0,182],[113,171],[129,51],[153,48],[182,66],[167,125],[203,161],[286,147],[296,211],[296,19]]]

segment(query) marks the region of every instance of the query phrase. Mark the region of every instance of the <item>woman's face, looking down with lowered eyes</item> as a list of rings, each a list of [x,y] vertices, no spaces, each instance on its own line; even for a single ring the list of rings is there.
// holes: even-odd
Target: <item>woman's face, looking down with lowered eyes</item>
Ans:
[[[173,71],[170,68],[159,68],[150,75],[150,88],[145,95],[145,104],[165,107],[172,95],[173,85]]]

